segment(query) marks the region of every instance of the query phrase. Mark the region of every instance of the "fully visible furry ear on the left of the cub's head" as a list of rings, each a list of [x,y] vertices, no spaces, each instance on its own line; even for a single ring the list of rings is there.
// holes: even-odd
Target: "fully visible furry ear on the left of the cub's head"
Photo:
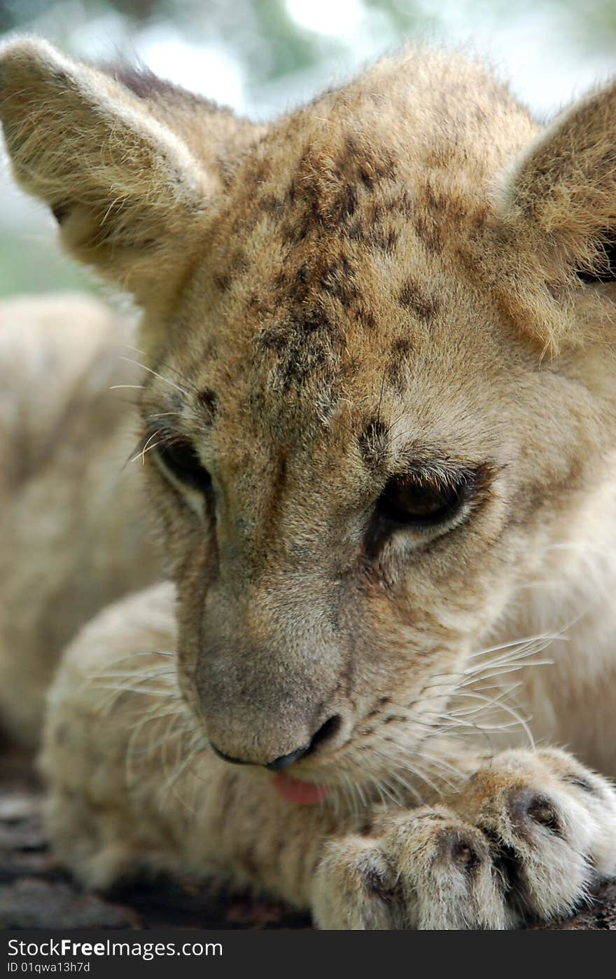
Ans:
[[[0,119],[17,180],[72,255],[142,302],[181,274],[218,178],[128,88],[18,40],[0,49]]]

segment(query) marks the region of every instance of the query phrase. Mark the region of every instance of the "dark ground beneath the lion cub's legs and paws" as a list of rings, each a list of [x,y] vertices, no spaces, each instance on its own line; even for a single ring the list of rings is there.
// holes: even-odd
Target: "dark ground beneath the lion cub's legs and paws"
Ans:
[[[310,928],[306,915],[275,902],[168,880],[106,897],[83,894],[54,865],[27,760],[5,748],[0,770],[0,928]],[[588,909],[549,927],[616,931],[616,883],[602,887]]]

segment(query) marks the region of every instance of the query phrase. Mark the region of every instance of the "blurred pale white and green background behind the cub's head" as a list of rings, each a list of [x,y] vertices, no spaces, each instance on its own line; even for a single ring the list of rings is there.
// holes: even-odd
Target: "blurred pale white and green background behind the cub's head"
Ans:
[[[541,118],[616,73],[616,0],[0,0],[0,39],[19,31],[262,119],[405,40],[469,48]],[[66,288],[92,286],[0,151],[0,296]]]

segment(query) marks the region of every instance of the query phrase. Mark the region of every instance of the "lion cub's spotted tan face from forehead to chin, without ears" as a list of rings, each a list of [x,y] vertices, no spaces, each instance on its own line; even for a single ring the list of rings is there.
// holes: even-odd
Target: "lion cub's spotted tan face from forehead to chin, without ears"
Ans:
[[[503,246],[467,175],[340,129],[289,160],[283,125],[237,174],[143,400],[185,694],[226,757],[312,745],[293,770],[330,781],[439,725],[575,536],[590,438],[487,279]]]

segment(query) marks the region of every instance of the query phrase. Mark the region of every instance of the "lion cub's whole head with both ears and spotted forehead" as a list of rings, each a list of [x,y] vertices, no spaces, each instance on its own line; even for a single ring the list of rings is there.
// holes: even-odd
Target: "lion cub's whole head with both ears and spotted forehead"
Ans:
[[[540,132],[484,70],[406,53],[265,127],[23,40],[0,98],[17,179],[144,309],[143,452],[212,746],[402,771],[594,519],[616,86]]]

